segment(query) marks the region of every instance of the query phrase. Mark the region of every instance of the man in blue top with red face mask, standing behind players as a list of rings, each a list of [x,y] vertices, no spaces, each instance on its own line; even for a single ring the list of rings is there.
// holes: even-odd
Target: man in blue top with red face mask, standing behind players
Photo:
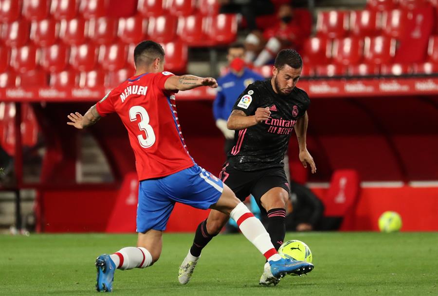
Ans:
[[[230,117],[237,97],[248,85],[256,80],[264,79],[246,67],[244,58],[244,45],[242,43],[231,44],[227,54],[230,72],[218,79],[218,93],[213,102],[213,115],[216,120],[216,126],[225,137],[225,154],[234,145],[234,131],[227,128],[227,120]]]

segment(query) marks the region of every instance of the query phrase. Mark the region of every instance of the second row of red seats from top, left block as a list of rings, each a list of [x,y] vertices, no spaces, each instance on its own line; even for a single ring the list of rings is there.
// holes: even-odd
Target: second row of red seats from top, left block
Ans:
[[[189,46],[217,46],[234,41],[236,34],[235,15],[160,16],[149,19],[137,15],[120,19],[45,19],[32,23],[17,20],[3,24],[1,39],[10,47],[23,46],[29,39],[38,46],[49,46],[59,43],[58,39],[68,45],[78,45],[89,39],[95,44],[110,44],[116,39],[129,44],[145,39],[167,43],[177,38]]]

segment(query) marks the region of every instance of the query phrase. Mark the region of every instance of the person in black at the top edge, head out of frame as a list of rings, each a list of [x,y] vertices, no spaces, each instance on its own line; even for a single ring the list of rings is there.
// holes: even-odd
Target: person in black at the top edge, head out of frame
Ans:
[[[242,15],[249,30],[257,30],[256,17],[274,13],[274,4],[270,0],[218,0],[219,13],[237,13]]]

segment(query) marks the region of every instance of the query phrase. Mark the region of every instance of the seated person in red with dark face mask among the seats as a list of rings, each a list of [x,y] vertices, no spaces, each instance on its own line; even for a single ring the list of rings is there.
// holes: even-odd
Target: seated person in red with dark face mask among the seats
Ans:
[[[253,31],[245,39],[246,61],[259,67],[273,60],[280,49],[300,51],[304,39],[311,33],[312,20],[307,10],[294,10],[283,4],[277,12],[277,22],[264,30]]]

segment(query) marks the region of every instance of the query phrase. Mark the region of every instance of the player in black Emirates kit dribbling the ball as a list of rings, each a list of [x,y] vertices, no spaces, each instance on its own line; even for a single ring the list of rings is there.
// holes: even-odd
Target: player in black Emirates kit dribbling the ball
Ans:
[[[316,172],[306,147],[310,99],[305,91],[295,87],[302,67],[300,55],[293,49],[284,49],[275,59],[272,79],[250,84],[238,97],[227,122],[229,129],[236,130],[234,147],[228,152],[219,174],[240,200],[250,194],[256,198],[261,211],[268,216],[267,231],[277,250],[286,232],[289,184],[283,158],[293,129],[300,161],[304,167],[309,164],[312,173]],[[179,270],[180,283],[190,280],[202,248],[219,234],[228,218],[211,210],[208,218],[199,224],[193,245]],[[266,263],[259,283],[275,285],[278,281]]]

